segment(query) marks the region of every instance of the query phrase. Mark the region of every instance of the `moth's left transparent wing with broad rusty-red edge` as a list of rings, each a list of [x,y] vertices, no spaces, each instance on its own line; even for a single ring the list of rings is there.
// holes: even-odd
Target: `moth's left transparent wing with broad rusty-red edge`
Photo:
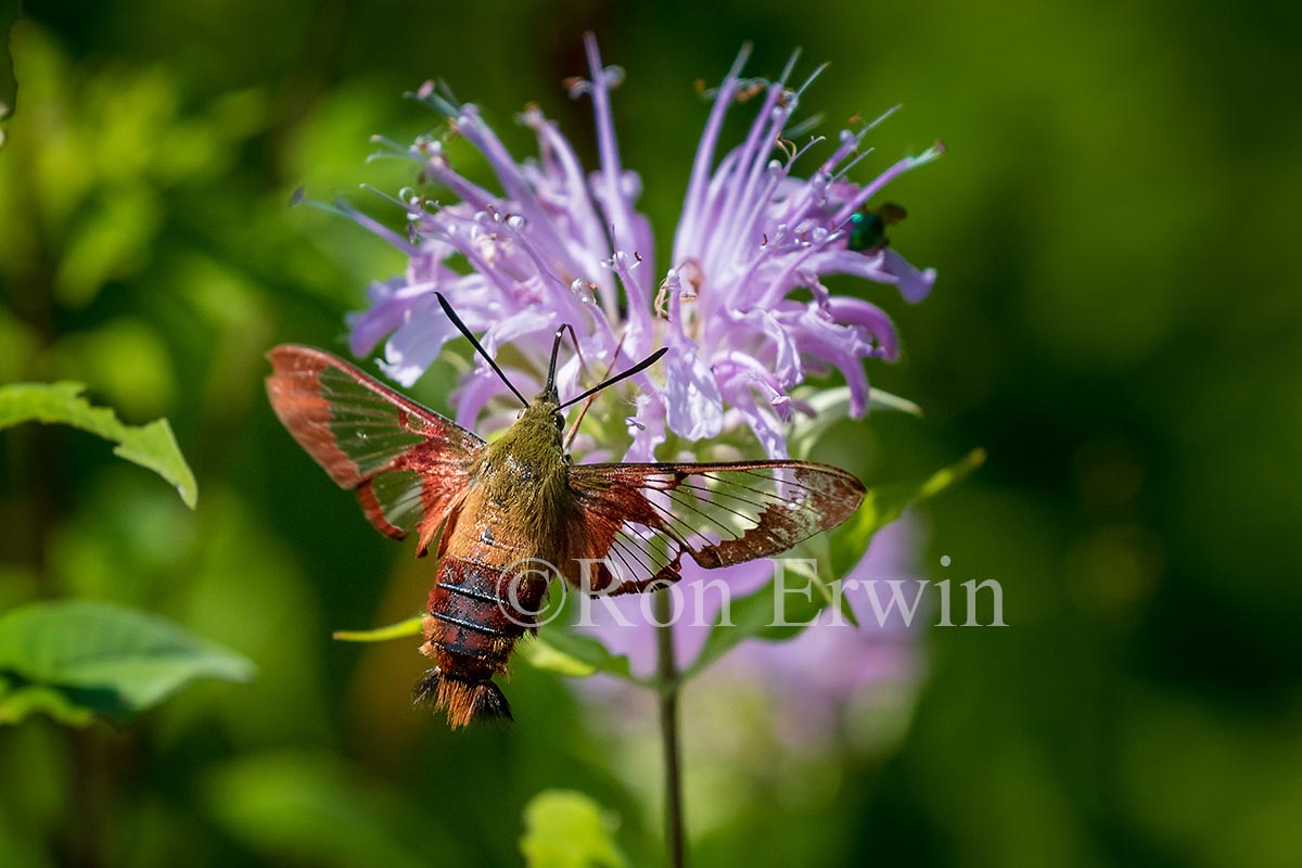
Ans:
[[[424,553],[484,441],[329,353],[286,345],[267,358],[267,397],[294,440],[357,491],[371,524],[393,539],[419,531]]]

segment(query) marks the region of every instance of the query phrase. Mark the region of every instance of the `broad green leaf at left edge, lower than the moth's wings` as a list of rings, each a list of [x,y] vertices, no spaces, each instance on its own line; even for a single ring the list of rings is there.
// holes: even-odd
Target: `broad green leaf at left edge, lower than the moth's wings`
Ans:
[[[194,678],[243,682],[254,666],[171,621],[73,600],[0,617],[0,673],[8,675],[7,722],[33,711],[73,722],[82,718],[76,709],[125,720]]]

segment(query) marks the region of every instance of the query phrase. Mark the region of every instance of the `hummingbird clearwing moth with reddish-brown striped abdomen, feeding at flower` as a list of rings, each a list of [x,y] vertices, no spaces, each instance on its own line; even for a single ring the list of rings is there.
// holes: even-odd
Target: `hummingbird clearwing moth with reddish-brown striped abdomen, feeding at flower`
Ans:
[[[785,552],[849,518],[865,495],[852,474],[801,461],[572,463],[562,410],[664,350],[561,403],[562,332],[547,387],[531,402],[510,387],[523,410],[491,444],[329,353],[268,353],[276,415],[331,479],[357,492],[371,524],[393,539],[415,534],[418,556],[439,537],[421,647],[436,665],[414,699],[444,709],[453,729],[510,720],[492,678],[536,631],[549,578],[536,565],[591,593],[643,591],[676,580],[684,554],[712,569]]]

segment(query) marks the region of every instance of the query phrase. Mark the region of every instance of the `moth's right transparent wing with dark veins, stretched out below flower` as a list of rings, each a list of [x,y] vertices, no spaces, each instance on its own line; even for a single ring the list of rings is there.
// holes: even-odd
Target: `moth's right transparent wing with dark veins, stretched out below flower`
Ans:
[[[575,465],[568,554],[592,591],[629,593],[676,580],[684,554],[703,567],[779,554],[849,518],[853,474],[802,461]],[[579,561],[582,563],[582,561]]]

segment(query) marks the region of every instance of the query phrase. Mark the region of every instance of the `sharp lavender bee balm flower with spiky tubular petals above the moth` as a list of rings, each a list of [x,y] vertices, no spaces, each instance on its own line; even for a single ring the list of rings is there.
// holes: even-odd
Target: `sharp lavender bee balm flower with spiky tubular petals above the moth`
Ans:
[[[868,400],[863,360],[897,357],[894,328],[875,305],[832,295],[822,281],[835,273],[866,277],[897,285],[914,302],[930,292],[931,269],[914,268],[884,243],[865,245],[855,229],[892,178],[935,159],[941,147],[901,160],[867,183],[852,181],[872,125],[845,130],[835,143],[786,141],[814,75],[789,86],[793,57],[775,82],[743,79],[743,51],[716,91],[669,267],[658,280],[651,226],[635,208],[641,181],[621,163],[611,117],[611,92],[622,73],[602,65],[591,34],[586,47],[591,78],[572,85],[570,95],[592,100],[599,168],[591,174],[536,107],[519,121],[534,131],[538,155],[517,161],[474,105],[431,83],[419,90],[417,98],[447,117],[449,135],[487,160],[497,189],[457,172],[435,135],[410,147],[385,142],[449,198],[404,190],[397,202],[408,215],[406,237],[352,212],[410,256],[406,273],[374,285],[370,308],[352,318],[353,353],[367,355],[387,337],[381,368],[413,384],[456,336],[436,290],[482,333],[490,353],[518,349],[499,363],[526,390],[539,384],[562,324],[574,328],[578,345],[559,372],[562,396],[668,346],[659,371],[637,377],[631,415],[602,424],[600,442],[575,440],[574,452],[586,459],[600,446],[603,457],[622,450],[628,461],[652,461],[659,448],[677,454],[733,433],[740,435],[733,445],[746,449],[746,432],[769,457],[785,457],[785,423],[806,409],[792,390],[809,373],[832,368],[850,388],[852,415],[862,415]],[[750,98],[759,104],[750,131],[716,159],[724,116]],[[825,154],[814,164],[819,151]],[[803,177],[806,164],[812,170]],[[793,298],[796,290],[812,299]],[[483,367],[467,372],[453,396],[457,422],[480,432],[509,424],[514,405],[497,400],[505,394]]]

